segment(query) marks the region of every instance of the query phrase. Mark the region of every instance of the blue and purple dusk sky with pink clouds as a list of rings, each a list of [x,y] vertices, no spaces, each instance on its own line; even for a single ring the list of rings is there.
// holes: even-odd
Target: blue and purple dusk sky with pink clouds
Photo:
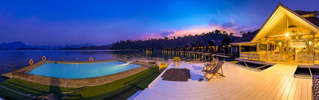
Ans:
[[[319,10],[319,0],[0,1],[0,43],[106,45],[223,29],[259,29],[278,3]]]

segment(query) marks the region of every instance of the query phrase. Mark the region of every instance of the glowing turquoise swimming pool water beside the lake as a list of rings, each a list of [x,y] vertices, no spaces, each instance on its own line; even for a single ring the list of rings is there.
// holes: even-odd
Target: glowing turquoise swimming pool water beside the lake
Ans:
[[[81,64],[44,63],[26,73],[46,77],[78,79],[111,75],[140,66],[142,65],[127,64],[121,61]]]

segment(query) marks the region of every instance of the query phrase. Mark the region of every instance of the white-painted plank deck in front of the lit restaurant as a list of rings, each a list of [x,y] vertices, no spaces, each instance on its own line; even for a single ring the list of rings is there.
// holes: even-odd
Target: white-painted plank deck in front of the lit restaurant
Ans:
[[[311,100],[312,79],[293,77],[297,65],[276,64],[262,72],[240,68],[229,63],[223,65],[226,77],[214,76],[207,81],[202,68],[204,63],[180,64],[169,68],[187,68],[188,82],[163,81],[161,75],[150,88],[143,90],[135,100],[188,99],[188,100]],[[219,70],[220,72],[220,70]],[[198,79],[204,78],[200,82]]]

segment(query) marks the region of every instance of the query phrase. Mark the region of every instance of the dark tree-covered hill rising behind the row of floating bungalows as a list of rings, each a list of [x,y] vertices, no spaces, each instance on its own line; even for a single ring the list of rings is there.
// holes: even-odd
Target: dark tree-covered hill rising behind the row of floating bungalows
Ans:
[[[222,40],[224,35],[228,35],[226,31],[213,30],[212,32],[202,33],[200,35],[184,35],[183,37],[164,37],[148,40],[126,40],[118,41],[112,45],[113,50],[126,50],[126,49],[139,49],[152,47],[154,49],[160,49],[161,47],[173,47],[173,46],[185,46],[185,44],[198,44],[199,42],[208,44],[209,39]],[[234,33],[230,33],[229,36],[234,36]]]

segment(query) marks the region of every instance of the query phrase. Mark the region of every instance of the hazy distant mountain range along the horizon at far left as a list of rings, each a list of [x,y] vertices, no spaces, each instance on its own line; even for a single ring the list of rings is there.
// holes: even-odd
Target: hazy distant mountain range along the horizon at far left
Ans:
[[[65,46],[36,46],[36,45],[26,45],[25,43],[21,41],[15,41],[12,43],[2,43],[0,44],[0,50],[16,50],[18,48],[41,48],[41,49],[59,49],[59,48],[79,48],[84,46],[93,46],[91,43],[85,43],[81,45],[65,45]]]

